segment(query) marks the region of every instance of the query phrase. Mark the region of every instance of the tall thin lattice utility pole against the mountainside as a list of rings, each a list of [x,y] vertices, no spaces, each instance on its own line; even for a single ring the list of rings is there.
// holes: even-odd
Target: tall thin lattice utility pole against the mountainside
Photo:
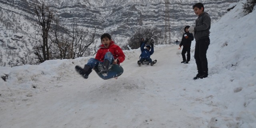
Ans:
[[[170,29],[171,29],[171,26],[170,26],[169,0],[165,0],[165,35],[164,35],[165,44],[171,44]]]

